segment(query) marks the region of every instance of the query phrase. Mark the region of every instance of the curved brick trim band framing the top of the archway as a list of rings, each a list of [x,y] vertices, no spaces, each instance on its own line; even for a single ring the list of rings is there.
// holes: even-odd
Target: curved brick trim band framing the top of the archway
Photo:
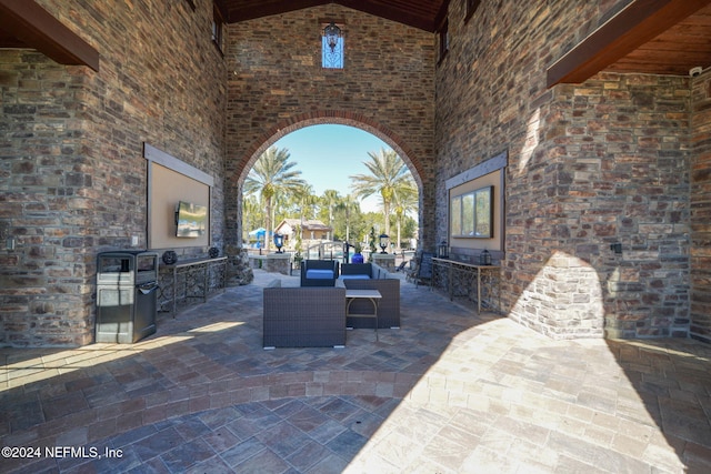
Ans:
[[[423,170],[420,160],[414,155],[412,150],[403,143],[403,140],[398,137],[392,130],[383,127],[374,120],[353,112],[322,110],[311,113],[303,113],[294,115],[291,119],[283,120],[276,127],[266,131],[259,140],[247,150],[244,157],[247,161],[243,162],[243,167],[239,170],[238,185],[241,188],[242,183],[247,179],[249,171],[254,165],[254,162],[269,147],[274,144],[279,139],[294,132],[299,129],[303,129],[312,125],[326,125],[338,124],[349,125],[363,130],[378,137],[380,140],[388,143],[400,155],[402,161],[408,165],[408,169],[412,173],[412,178],[422,194],[422,182],[427,181],[424,178],[425,171]]]

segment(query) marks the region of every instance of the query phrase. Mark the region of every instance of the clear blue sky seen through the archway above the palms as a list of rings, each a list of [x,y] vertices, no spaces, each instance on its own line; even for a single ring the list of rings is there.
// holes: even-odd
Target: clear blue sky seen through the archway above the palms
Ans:
[[[312,125],[291,132],[274,143],[289,150],[291,161],[301,178],[313,186],[317,195],[332,189],[341,195],[351,192],[350,175],[368,174],[363,161],[368,152],[391,148],[378,137],[348,125]],[[361,202],[363,212],[378,211],[379,198],[370,196]]]

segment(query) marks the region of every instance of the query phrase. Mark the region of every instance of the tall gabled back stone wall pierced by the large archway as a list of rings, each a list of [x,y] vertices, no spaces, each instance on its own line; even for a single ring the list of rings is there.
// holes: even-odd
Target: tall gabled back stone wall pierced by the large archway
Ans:
[[[321,22],[331,20],[344,33],[342,70],[321,68]],[[330,4],[231,24],[228,51],[229,239],[241,240],[241,180],[259,153],[319,123],[361,128],[399,151],[422,184],[421,228],[432,226],[433,34]]]

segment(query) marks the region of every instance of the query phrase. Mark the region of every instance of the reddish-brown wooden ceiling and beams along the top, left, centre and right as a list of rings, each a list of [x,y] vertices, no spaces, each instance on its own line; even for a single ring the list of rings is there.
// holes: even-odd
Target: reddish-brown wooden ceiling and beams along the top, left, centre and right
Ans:
[[[174,1],[174,0],[173,0]],[[190,0],[188,0],[190,2]],[[450,0],[214,0],[228,23],[338,3],[435,32]],[[475,17],[472,19],[475,21]],[[99,69],[99,52],[33,0],[0,0],[0,48],[30,48],[62,64]],[[630,0],[548,72],[548,85],[600,71],[687,75],[711,68],[711,0]]]

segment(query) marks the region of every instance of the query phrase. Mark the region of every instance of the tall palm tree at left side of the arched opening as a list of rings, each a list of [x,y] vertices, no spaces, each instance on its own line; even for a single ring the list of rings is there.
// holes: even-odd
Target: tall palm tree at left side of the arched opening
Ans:
[[[289,150],[271,147],[259,157],[244,181],[244,192],[259,193],[264,206],[264,229],[267,230],[264,248],[267,250],[270,246],[269,234],[273,231],[271,209],[274,196],[279,193],[293,193],[299,186],[306,184],[299,178],[301,171],[292,170],[297,162],[289,161]]]

